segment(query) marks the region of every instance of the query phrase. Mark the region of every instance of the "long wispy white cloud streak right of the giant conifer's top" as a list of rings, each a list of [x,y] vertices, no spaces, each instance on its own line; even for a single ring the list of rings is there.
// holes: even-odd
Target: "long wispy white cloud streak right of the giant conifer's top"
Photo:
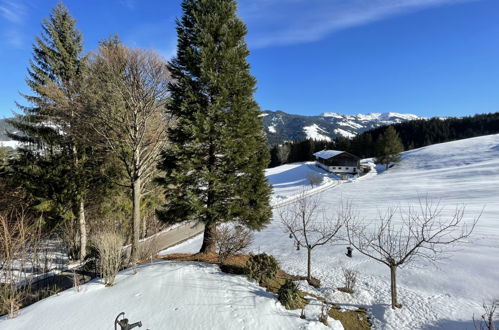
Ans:
[[[318,41],[333,32],[426,8],[476,0],[252,0],[240,15],[252,47]]]

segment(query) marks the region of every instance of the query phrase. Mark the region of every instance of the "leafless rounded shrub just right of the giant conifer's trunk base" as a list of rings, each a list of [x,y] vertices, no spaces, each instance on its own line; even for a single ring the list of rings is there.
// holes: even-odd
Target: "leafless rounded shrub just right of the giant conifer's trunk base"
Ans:
[[[218,249],[218,259],[221,264],[225,263],[228,257],[243,251],[253,240],[252,233],[243,226],[231,226],[222,224],[217,228],[215,237]]]

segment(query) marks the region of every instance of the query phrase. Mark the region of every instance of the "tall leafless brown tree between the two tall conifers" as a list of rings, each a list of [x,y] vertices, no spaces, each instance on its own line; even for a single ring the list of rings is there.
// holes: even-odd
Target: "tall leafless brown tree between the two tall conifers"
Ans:
[[[113,39],[101,43],[90,62],[89,121],[102,144],[121,162],[132,191],[132,263],[138,258],[140,204],[167,143],[170,74],[152,51],[130,49]]]

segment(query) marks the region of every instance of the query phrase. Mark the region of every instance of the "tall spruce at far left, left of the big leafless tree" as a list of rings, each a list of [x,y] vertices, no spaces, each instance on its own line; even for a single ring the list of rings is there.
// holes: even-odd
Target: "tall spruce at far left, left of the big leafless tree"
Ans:
[[[85,71],[82,35],[68,9],[59,2],[35,39],[26,83],[28,106],[10,123],[22,142],[14,169],[38,201],[36,209],[54,223],[79,223],[79,257],[86,251],[85,191],[88,188],[85,129],[78,122],[79,95]]]

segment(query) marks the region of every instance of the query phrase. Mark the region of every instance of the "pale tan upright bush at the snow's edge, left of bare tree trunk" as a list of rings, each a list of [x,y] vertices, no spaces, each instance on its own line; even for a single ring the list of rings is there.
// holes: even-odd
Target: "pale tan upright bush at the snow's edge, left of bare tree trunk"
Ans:
[[[99,273],[104,280],[104,284],[112,286],[122,262],[123,237],[118,233],[105,231],[95,236],[94,244],[99,255]]]

